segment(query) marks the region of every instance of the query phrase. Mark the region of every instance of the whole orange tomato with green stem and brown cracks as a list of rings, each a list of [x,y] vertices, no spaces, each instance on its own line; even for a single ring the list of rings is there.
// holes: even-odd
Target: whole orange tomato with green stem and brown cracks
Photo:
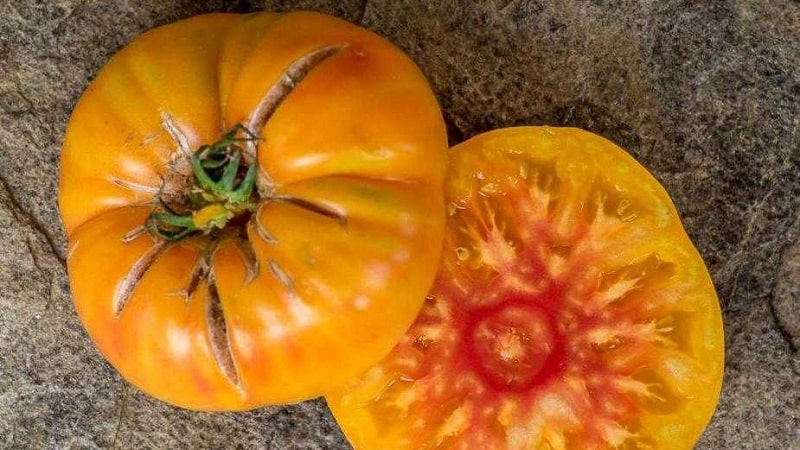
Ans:
[[[422,73],[364,29],[298,12],[147,32],[64,140],[77,313],[124,378],[175,405],[318,396],[419,312],[446,152]]]

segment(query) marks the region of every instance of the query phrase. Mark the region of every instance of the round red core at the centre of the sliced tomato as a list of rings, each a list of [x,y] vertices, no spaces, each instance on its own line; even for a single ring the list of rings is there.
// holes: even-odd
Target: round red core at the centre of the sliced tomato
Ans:
[[[466,333],[475,368],[499,389],[526,389],[557,372],[561,339],[548,314],[512,299],[490,311],[476,311]]]

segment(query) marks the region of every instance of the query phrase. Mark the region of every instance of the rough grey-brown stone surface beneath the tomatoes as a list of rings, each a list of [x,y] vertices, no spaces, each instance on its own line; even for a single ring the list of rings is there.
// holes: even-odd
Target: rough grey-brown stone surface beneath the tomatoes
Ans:
[[[70,110],[142,31],[260,1],[0,0],[0,448],[346,449],[324,403],[190,413],[128,386],[71,304],[56,206]],[[800,449],[800,3],[276,0],[357,22],[429,76],[451,143],[520,124],[616,141],[666,186],[725,314],[698,449]],[[388,449],[391,450],[391,449]]]

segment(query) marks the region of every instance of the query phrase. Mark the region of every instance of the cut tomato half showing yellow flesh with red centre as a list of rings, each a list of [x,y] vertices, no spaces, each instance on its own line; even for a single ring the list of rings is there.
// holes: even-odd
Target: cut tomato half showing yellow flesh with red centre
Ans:
[[[381,363],[328,396],[356,449],[690,449],[719,303],[667,193],[609,141],[521,127],[451,150],[442,263]]]

